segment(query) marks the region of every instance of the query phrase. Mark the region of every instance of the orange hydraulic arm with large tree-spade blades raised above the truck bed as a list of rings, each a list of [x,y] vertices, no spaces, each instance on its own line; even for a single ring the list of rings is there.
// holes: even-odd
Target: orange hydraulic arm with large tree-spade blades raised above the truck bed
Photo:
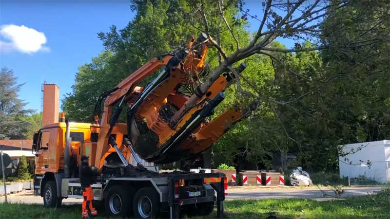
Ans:
[[[91,123],[91,140],[97,140],[95,165],[101,168],[110,147],[115,148],[124,165],[125,156],[119,147],[125,146],[148,162],[172,163],[203,152],[243,117],[239,108],[226,110],[214,120],[215,107],[224,99],[223,91],[234,80],[232,73],[221,75],[210,89],[199,94],[196,87],[209,70],[205,63],[208,40],[205,34],[192,37],[187,48],[154,58],[121,81],[116,88],[102,94],[100,110],[97,103]],[[241,72],[245,65],[237,71]],[[154,75],[145,86],[139,83]],[[194,89],[195,88],[195,89]],[[200,99],[176,120],[172,116],[183,107],[193,93]],[[118,118],[127,108],[127,124]],[[122,134],[122,138],[116,137]],[[120,142],[119,142],[120,141]],[[130,152],[129,152],[130,153]],[[127,156],[128,157],[128,156]]]

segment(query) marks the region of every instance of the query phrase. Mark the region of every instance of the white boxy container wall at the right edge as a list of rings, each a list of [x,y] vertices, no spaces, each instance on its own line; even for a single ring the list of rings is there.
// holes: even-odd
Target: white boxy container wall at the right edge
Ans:
[[[367,178],[373,179],[379,183],[386,183],[389,181],[390,141],[385,140],[345,145],[343,151],[349,152],[352,148],[356,151],[357,148],[362,146],[365,147],[360,151],[345,157],[339,157],[340,177],[350,176],[352,178],[359,175],[365,175]],[[348,160],[345,161],[345,158],[348,158]],[[349,164],[350,162],[352,162],[352,164],[360,164],[360,160],[363,161],[363,165]],[[367,160],[371,162],[370,168],[365,165]]]

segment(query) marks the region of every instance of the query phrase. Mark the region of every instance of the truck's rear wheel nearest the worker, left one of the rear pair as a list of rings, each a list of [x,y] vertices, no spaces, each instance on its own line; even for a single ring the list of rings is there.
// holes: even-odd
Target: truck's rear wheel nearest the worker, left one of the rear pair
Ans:
[[[132,194],[122,186],[114,185],[108,189],[105,209],[113,216],[128,217],[131,214]]]

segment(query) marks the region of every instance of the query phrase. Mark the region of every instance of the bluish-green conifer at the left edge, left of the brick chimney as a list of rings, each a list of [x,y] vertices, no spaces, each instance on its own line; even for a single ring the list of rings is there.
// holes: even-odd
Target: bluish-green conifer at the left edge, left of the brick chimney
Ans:
[[[1,68],[0,73],[0,139],[23,138],[30,123],[23,117],[34,110],[25,110],[26,103],[18,98],[23,84],[16,84],[17,77],[12,70]]]

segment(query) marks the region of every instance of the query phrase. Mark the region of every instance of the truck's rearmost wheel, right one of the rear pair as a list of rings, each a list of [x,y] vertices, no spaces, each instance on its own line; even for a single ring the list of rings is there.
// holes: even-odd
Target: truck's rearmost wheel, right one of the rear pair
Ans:
[[[157,218],[160,201],[154,188],[145,187],[137,191],[133,203],[134,218]]]

